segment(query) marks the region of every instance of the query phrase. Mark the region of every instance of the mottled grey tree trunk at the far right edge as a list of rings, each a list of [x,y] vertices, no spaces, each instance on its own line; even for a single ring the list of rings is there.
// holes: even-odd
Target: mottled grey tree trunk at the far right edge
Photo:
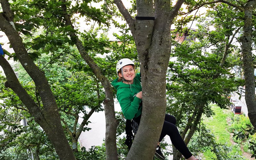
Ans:
[[[256,0],[251,0],[244,7],[244,35],[242,42],[242,55],[244,63],[245,101],[248,109],[248,117],[256,128],[256,99],[255,99],[255,76],[252,59],[252,11]]]

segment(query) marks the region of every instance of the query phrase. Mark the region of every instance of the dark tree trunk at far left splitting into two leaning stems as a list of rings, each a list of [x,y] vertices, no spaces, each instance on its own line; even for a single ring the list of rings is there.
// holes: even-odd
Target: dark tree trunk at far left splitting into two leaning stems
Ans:
[[[35,117],[35,121],[44,129],[45,133],[52,141],[52,144],[60,159],[76,159],[68,144],[68,140],[60,123],[58,107],[52,94],[50,85],[48,84],[44,73],[29,57],[28,52],[22,43],[22,38],[15,29],[12,14],[10,14],[12,11],[8,1],[1,0],[0,2],[3,7],[3,13],[0,13],[0,28],[2,31],[4,31],[5,35],[12,44],[13,50],[16,53],[21,65],[35,82],[36,88],[39,91],[39,95],[43,102],[44,109],[40,109],[36,105],[34,100],[20,85],[10,64],[4,59],[3,56],[0,56],[0,65],[4,69],[4,73],[7,78],[5,86],[10,87],[19,96],[20,100],[28,108],[32,116]]]

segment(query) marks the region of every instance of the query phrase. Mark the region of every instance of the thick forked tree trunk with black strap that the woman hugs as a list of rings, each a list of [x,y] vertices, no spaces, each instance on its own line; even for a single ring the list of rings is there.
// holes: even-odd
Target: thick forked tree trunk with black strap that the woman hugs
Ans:
[[[121,0],[115,0],[134,37],[140,61],[143,110],[140,126],[126,159],[153,159],[166,111],[165,79],[170,58],[170,28],[183,0],[170,10],[170,0],[136,1],[133,20]],[[143,152],[143,154],[141,154]]]

